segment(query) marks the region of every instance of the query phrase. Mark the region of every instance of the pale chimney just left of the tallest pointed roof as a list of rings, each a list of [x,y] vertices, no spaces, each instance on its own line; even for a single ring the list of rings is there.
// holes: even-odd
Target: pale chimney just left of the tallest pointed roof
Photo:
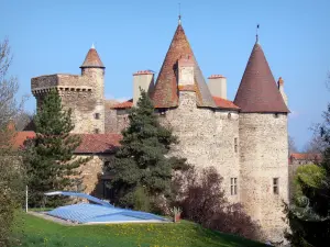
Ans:
[[[140,70],[133,74],[133,105],[134,106],[136,106],[136,103],[141,96],[140,88],[146,91],[147,94],[153,90],[154,72],[150,70]]]

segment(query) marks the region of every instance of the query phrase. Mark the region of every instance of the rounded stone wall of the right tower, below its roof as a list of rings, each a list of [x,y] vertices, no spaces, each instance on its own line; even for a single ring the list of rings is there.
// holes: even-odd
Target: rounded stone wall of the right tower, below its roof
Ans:
[[[241,201],[267,239],[283,240],[282,200],[288,202],[286,114],[240,114]],[[273,179],[278,179],[278,193]]]

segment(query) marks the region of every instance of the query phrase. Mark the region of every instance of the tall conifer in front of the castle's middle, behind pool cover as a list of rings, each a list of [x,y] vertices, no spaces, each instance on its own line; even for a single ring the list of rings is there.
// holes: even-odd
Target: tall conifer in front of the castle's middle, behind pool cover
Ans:
[[[116,203],[141,210],[138,206],[141,203],[136,203],[141,200],[136,197],[147,197],[151,203],[161,198],[168,200],[173,170],[186,165],[185,159],[169,157],[170,146],[177,143],[177,138],[160,124],[145,91],[141,91],[138,108],[131,109],[129,120],[113,166],[108,167],[113,175],[110,188],[114,191]]]

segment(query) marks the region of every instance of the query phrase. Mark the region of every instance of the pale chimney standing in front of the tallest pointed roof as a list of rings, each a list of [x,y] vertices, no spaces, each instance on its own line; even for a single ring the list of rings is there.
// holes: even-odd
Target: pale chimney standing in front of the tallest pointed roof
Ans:
[[[191,57],[188,55],[186,57],[182,57],[178,59],[177,63],[178,67],[178,88],[180,89],[182,87],[191,87],[195,85],[194,80],[194,67],[195,64],[191,59]]]

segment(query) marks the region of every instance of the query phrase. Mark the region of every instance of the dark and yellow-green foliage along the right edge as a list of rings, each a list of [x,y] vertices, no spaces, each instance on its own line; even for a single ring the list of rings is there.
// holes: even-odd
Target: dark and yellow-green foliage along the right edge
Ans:
[[[298,176],[299,200],[286,213],[290,225],[287,238],[293,246],[324,246],[330,243],[330,104],[319,125],[324,145],[320,168],[307,167]],[[304,169],[304,168],[301,168]]]

